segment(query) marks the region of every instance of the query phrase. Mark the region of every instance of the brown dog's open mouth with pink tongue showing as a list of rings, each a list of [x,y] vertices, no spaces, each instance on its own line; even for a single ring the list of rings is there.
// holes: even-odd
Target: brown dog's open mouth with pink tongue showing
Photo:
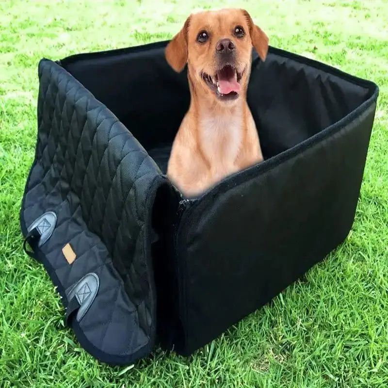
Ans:
[[[224,66],[213,76],[202,73],[202,79],[221,99],[234,99],[239,96],[241,78],[242,73],[239,73],[232,65]]]

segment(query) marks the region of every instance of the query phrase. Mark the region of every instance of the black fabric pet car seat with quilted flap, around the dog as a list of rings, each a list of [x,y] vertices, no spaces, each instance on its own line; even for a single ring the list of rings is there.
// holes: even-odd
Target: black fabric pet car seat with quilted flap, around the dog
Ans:
[[[254,53],[247,98],[265,161],[187,199],[164,175],[190,101],[165,45],[39,63],[25,250],[81,346],[109,364],[147,356],[156,340],[191,354],[338,246],[376,109],[371,81]]]

